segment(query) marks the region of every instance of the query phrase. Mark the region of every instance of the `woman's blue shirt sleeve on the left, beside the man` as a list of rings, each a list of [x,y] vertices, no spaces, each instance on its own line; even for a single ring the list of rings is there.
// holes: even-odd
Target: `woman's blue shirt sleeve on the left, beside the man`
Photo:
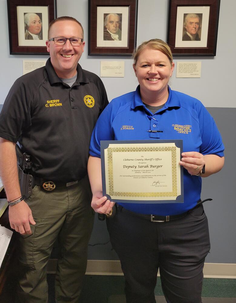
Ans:
[[[112,104],[104,109],[98,118],[92,133],[89,154],[101,158],[100,142],[103,140],[114,140],[114,134],[111,129],[112,124]]]

